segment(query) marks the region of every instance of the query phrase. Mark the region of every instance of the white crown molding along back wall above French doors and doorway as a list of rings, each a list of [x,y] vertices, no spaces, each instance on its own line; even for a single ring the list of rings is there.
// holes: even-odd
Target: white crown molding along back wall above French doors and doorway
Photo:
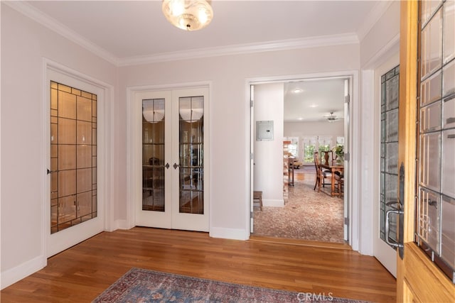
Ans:
[[[290,40],[276,40],[265,43],[248,43],[241,45],[227,45],[219,48],[202,48],[185,50],[173,53],[161,53],[138,57],[128,57],[120,60],[119,66],[140,65],[156,62],[198,59],[202,57],[218,57],[224,55],[240,55],[248,53],[262,53],[277,50],[294,50],[299,48],[316,48],[322,46],[358,44],[355,33],[343,35],[323,35],[311,38]]]

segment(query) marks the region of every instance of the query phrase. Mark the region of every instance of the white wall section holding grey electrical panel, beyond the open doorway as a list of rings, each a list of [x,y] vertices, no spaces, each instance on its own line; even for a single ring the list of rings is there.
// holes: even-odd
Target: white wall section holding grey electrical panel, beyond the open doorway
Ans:
[[[253,188],[262,191],[262,203],[264,206],[284,206],[284,84],[270,83],[255,85],[254,109],[255,121],[274,121],[274,137],[272,141],[255,140]]]

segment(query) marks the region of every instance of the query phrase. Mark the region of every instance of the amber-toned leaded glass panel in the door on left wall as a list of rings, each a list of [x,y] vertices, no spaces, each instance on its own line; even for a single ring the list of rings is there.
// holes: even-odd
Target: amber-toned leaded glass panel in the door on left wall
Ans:
[[[50,233],[97,216],[97,95],[50,82]]]

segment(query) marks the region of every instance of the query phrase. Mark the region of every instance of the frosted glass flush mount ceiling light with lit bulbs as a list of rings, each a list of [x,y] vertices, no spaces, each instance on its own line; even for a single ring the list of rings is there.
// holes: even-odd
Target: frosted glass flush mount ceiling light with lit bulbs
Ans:
[[[162,10],[173,26],[197,31],[212,21],[212,6],[205,0],[163,0]]]

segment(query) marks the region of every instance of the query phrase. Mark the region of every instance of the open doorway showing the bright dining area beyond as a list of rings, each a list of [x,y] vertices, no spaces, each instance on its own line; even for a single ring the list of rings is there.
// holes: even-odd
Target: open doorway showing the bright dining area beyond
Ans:
[[[350,76],[340,76],[250,83],[252,128],[274,121],[269,140],[252,129],[251,189],[262,192],[263,204],[261,210],[252,203],[253,236],[348,241],[349,192],[330,178],[319,190],[314,152],[319,151],[322,162],[321,154],[327,152],[330,166],[336,162],[336,147],[343,146],[340,166],[346,160],[349,181],[344,153],[350,142],[351,82]]]

